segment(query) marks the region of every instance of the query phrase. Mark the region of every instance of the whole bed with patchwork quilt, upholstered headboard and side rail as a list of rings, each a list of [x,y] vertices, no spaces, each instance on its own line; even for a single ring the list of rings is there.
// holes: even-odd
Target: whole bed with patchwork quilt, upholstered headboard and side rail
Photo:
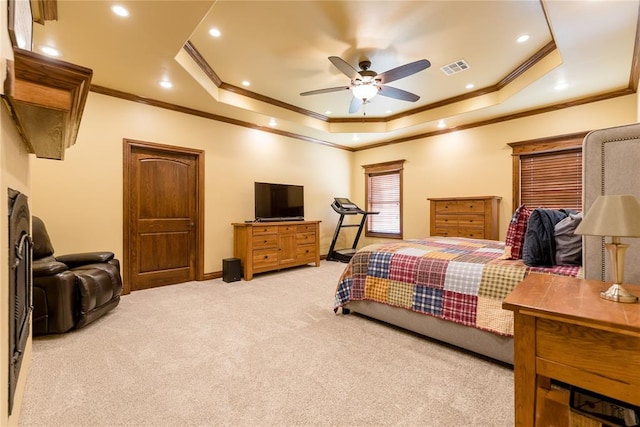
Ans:
[[[585,137],[582,152],[586,210],[599,195],[640,198],[640,124],[593,131]],[[514,218],[506,243],[430,237],[358,250],[339,280],[334,311],[360,313],[513,364],[513,322],[510,312],[501,309],[501,300],[527,274],[609,277],[604,239],[594,236],[581,241],[582,268],[528,267],[522,259],[502,259],[502,251],[516,249],[509,240]],[[626,281],[640,283],[640,239],[625,240],[631,245]]]

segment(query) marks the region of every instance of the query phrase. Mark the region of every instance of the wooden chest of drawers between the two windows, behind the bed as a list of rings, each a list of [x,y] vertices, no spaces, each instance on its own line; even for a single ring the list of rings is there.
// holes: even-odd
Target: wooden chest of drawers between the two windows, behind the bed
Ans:
[[[498,205],[502,197],[431,198],[431,236],[498,240]]]

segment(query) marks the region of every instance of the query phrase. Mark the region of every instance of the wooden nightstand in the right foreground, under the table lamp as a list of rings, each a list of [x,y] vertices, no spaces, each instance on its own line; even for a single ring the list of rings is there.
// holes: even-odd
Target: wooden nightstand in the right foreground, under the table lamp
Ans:
[[[514,312],[515,424],[533,426],[551,379],[640,405],[640,304],[600,298],[609,284],[530,274],[502,307]],[[640,286],[627,285],[640,294]]]

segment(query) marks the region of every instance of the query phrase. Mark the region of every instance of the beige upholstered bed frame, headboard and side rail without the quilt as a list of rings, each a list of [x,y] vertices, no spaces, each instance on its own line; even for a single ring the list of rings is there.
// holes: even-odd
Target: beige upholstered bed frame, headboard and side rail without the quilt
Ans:
[[[601,194],[634,194],[640,198],[640,124],[618,126],[589,133],[583,142],[583,200],[587,211]],[[640,283],[640,239],[631,239],[625,281]],[[623,239],[624,241],[624,239]],[[608,259],[604,239],[583,238],[587,279],[605,280]],[[436,317],[373,301],[350,301],[343,307],[374,319],[513,364],[513,338],[448,322]]]

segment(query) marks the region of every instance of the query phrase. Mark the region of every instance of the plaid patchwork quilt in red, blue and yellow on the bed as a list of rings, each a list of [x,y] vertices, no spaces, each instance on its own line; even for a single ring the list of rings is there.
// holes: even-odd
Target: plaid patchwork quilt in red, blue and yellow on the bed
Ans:
[[[582,277],[579,266],[529,267],[505,260],[504,242],[429,237],[366,246],[342,273],[334,311],[349,301],[376,301],[513,335],[504,298],[531,272]]]

